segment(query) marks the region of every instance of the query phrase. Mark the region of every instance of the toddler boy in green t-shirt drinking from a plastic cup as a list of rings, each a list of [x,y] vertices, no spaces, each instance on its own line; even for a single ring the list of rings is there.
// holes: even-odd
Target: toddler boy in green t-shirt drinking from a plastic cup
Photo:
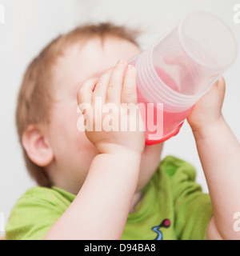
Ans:
[[[140,129],[76,128],[83,126],[78,105],[86,123],[102,126],[82,105],[94,108],[97,97],[119,109],[137,103],[136,70],[126,60],[139,52],[123,27],[80,26],[30,64],[17,125],[26,166],[40,186],[14,206],[6,239],[240,238],[233,228],[240,146],[222,117],[223,78],[188,118],[210,196],[202,194],[187,162],[169,156],[159,165],[162,144],[145,146]]]

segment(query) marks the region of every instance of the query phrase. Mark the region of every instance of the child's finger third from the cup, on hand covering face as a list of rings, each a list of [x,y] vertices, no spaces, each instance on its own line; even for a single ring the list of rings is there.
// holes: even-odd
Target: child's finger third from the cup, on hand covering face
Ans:
[[[96,97],[102,98],[102,104],[105,103],[106,100],[106,89],[110,82],[110,77],[113,72],[113,68],[107,70],[102,76],[99,78],[95,88],[94,88],[94,97],[93,97],[93,104],[95,102]]]

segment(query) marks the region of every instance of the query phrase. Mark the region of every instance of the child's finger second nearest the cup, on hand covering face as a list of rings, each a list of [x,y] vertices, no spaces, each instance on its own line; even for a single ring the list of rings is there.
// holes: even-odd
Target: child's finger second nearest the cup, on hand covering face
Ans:
[[[121,103],[122,82],[126,70],[127,62],[119,60],[110,77],[109,85],[106,89],[106,102]]]

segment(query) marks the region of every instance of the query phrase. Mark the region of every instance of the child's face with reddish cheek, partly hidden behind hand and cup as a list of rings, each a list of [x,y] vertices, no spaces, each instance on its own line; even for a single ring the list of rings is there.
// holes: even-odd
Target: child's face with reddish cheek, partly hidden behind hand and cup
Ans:
[[[50,164],[50,174],[54,185],[73,193],[78,193],[90,164],[98,154],[84,131],[82,114],[79,113],[77,92],[86,79],[98,77],[114,66],[119,58],[129,60],[141,50],[138,46],[119,38],[106,38],[102,45],[100,38],[93,38],[83,47],[69,47],[54,67],[53,102],[50,126],[47,137],[54,152],[54,161]],[[154,174],[162,144],[146,146],[142,154],[138,190]]]

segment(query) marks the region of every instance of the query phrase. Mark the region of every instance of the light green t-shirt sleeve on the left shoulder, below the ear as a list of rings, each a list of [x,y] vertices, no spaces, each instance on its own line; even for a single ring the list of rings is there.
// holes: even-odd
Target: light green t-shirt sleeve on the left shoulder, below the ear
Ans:
[[[42,240],[66,207],[50,189],[28,191],[11,211],[6,240]]]

